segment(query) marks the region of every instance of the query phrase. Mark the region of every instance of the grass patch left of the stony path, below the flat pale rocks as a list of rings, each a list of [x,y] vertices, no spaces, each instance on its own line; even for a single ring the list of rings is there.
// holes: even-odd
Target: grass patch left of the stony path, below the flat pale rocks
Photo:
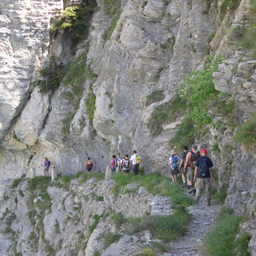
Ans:
[[[153,238],[170,242],[186,234],[190,218],[191,214],[182,206],[169,216],[150,215],[141,218],[126,218],[124,226],[128,234],[150,230]]]

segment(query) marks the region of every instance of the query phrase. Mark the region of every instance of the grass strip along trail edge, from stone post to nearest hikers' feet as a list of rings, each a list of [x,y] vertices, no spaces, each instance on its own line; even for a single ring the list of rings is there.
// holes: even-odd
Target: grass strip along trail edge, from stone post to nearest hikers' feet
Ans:
[[[122,188],[129,183],[137,182],[138,186],[145,186],[151,194],[170,196],[174,205],[190,206],[193,200],[182,193],[182,188],[177,184],[171,184],[171,179],[163,177],[161,174],[149,175],[114,175],[113,193],[118,195]]]

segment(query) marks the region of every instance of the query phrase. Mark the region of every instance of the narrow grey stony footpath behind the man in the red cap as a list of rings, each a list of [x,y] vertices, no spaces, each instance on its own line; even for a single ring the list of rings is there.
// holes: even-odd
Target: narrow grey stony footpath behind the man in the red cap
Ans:
[[[188,194],[186,189],[185,194]],[[189,194],[190,195],[190,194]],[[192,196],[191,196],[192,197]],[[193,197],[194,198],[194,197]],[[190,214],[193,215],[186,235],[171,242],[171,253],[166,256],[205,256],[202,252],[202,239],[221,210],[222,206],[206,206],[204,195],[199,204],[188,207]]]

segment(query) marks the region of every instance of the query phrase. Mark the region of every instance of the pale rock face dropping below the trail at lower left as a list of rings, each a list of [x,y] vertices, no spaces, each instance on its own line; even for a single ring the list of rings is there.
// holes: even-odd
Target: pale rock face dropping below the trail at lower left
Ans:
[[[38,189],[30,190],[27,181],[14,189],[5,183],[0,187],[0,254],[93,256],[103,252],[104,241],[110,234],[123,235],[116,229],[113,215],[140,217],[144,214],[166,215],[170,213],[170,201],[166,197],[127,192],[117,197],[112,194],[113,181],[87,182],[78,179],[64,183],[55,181],[42,194]],[[4,198],[4,200],[3,200]],[[155,206],[154,206],[155,205]],[[152,206],[152,208],[151,208]],[[142,238],[140,238],[142,237]],[[144,238],[145,237],[145,238]],[[148,232],[131,239],[131,251],[152,238]],[[13,242],[15,240],[15,243]],[[119,246],[120,247],[120,246]]]

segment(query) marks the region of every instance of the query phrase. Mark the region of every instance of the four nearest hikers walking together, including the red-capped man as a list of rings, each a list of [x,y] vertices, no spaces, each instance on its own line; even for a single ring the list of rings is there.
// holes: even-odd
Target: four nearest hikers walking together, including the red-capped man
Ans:
[[[195,204],[198,204],[202,190],[205,189],[207,206],[210,206],[210,189],[214,183],[213,162],[207,157],[207,150],[198,151],[196,145],[183,146],[181,158],[178,158],[175,150],[170,151],[168,166],[173,182],[176,182],[177,175],[182,174],[182,187],[187,187],[190,194],[195,196]],[[193,185],[194,184],[194,185]]]

